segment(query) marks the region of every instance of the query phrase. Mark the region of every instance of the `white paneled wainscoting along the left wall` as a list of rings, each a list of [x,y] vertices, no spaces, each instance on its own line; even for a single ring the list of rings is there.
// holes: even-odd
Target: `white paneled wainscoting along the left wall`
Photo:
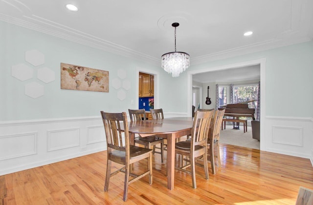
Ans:
[[[99,116],[0,122],[0,175],[106,149]]]

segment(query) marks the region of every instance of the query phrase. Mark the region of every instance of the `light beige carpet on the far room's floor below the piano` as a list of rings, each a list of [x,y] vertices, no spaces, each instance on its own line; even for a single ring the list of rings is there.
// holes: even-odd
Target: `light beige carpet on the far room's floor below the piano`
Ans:
[[[226,129],[221,130],[220,143],[260,149],[260,141],[252,139],[251,126],[247,129],[244,133],[242,125],[240,129],[233,129],[233,125],[226,125]]]

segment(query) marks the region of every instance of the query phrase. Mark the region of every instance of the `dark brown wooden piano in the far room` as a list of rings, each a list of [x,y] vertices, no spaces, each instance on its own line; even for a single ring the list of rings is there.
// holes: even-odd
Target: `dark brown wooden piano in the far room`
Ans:
[[[248,103],[254,101],[255,100],[236,104],[227,104],[225,106],[221,106],[219,109],[225,109],[224,116],[234,117],[234,119],[238,119],[239,117],[250,117],[252,120],[255,120],[255,109],[248,107]]]

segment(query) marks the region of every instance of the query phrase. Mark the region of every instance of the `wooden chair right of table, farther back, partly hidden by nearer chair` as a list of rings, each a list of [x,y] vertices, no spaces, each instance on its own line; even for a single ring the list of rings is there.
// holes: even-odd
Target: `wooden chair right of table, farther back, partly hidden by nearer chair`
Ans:
[[[214,118],[211,123],[211,129],[209,131],[209,137],[207,141],[208,157],[210,158],[212,173],[215,174],[215,162],[214,158],[217,157],[219,167],[221,167],[220,156],[220,133],[223,123],[225,109],[215,110]],[[217,153],[216,155],[214,153]]]

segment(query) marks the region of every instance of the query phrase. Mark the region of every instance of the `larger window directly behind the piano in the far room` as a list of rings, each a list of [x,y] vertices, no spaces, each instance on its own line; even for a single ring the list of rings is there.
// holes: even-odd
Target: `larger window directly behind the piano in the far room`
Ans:
[[[234,103],[258,100],[258,84],[234,85]],[[249,103],[249,108],[256,108],[258,101]]]

